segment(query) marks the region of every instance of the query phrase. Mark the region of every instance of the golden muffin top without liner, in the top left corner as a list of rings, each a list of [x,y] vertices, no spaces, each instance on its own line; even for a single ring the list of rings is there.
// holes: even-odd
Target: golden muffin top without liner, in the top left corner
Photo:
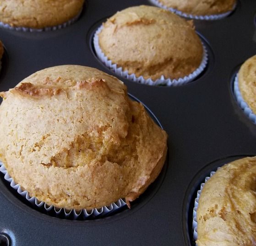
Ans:
[[[11,27],[44,28],[77,16],[84,0],[2,0],[0,21]]]

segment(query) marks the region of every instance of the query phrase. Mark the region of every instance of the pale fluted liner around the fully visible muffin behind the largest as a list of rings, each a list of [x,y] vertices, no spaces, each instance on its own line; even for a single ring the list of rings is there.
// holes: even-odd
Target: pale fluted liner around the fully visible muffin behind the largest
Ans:
[[[206,49],[205,45],[202,43],[203,58],[202,58],[202,62],[200,64],[200,66],[193,73],[185,76],[184,78],[171,80],[171,79],[164,78],[164,76],[162,75],[160,77],[160,79],[152,80],[150,78],[144,79],[143,76],[136,77],[135,74],[128,74],[127,70],[123,71],[122,67],[117,67],[117,64],[112,64],[112,61],[109,60],[105,56],[105,54],[102,52],[101,48],[99,47],[98,34],[101,32],[102,28],[103,28],[103,26],[101,25],[97,29],[97,31],[95,32],[94,37],[93,37],[93,45],[95,48],[96,55],[97,55],[98,59],[100,59],[103,62],[103,64],[105,64],[108,68],[110,68],[110,70],[114,71],[114,73],[116,73],[117,75],[119,75],[121,77],[125,77],[128,80],[132,80],[132,81],[139,82],[139,83],[145,84],[145,85],[150,85],[150,86],[158,86],[158,85],[180,86],[180,85],[190,82],[191,80],[194,80],[206,68],[208,54],[207,54],[207,49]]]

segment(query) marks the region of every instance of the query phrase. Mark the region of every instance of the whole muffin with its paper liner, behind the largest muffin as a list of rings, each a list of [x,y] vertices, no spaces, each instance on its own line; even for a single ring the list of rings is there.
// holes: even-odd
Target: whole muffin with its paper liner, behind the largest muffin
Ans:
[[[117,12],[99,27],[93,43],[98,58],[117,75],[148,85],[187,83],[207,64],[193,23],[152,6]]]

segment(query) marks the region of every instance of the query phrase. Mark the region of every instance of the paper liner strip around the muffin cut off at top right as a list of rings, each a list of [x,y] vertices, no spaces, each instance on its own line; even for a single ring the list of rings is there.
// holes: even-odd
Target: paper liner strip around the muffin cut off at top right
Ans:
[[[179,15],[179,16],[182,16],[182,17],[185,17],[185,18],[196,19],[196,20],[204,20],[204,21],[215,21],[215,20],[223,19],[223,18],[229,16],[230,13],[233,12],[235,7],[236,7],[236,2],[235,2],[232,10],[227,11],[225,13],[217,14],[217,15],[209,15],[209,16],[196,16],[196,15],[186,14],[186,13],[184,13],[182,11],[179,11],[177,9],[174,9],[174,8],[169,8],[165,5],[163,5],[162,3],[160,3],[158,0],[149,0],[149,1],[151,3],[153,3],[154,5],[157,5],[160,8],[163,8],[163,9],[166,9],[166,10],[169,10],[169,11],[173,12],[176,15]]]

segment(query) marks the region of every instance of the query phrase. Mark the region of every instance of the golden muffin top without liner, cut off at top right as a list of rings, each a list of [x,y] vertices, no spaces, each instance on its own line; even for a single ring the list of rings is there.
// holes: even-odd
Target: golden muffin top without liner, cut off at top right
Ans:
[[[235,0],[158,0],[168,8],[196,16],[218,15],[231,11]]]

